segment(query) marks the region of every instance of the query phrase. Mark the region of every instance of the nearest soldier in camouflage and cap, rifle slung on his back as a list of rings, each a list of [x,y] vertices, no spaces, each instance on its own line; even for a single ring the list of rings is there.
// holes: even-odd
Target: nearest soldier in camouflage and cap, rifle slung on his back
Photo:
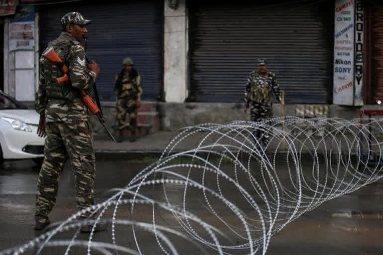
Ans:
[[[76,204],[79,210],[94,204],[95,156],[90,114],[82,102],[80,90],[89,91],[99,67],[87,64],[84,47],[80,44],[91,21],[78,12],[69,12],[61,19],[60,36],[49,42],[60,59],[68,66],[69,80],[57,84],[56,78],[64,74],[60,65],[40,58],[40,77],[36,110],[40,115],[37,129],[45,136],[44,161],[36,189],[35,229],[44,229],[49,223],[48,214],[55,202],[58,179],[65,160],[69,157],[76,185]],[[89,215],[81,215],[81,219]],[[88,232],[91,226],[83,226]],[[98,226],[96,231],[104,230]]]

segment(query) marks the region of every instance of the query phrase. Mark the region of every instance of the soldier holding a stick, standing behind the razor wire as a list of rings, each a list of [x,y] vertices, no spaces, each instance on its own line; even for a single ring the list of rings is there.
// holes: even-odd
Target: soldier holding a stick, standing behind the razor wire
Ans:
[[[266,118],[273,117],[272,92],[274,92],[278,102],[281,101],[281,92],[277,77],[274,73],[267,71],[265,59],[258,60],[258,70],[252,71],[245,87],[245,107],[251,107],[250,120],[260,122]],[[267,144],[269,134],[262,132],[259,128],[255,135]]]

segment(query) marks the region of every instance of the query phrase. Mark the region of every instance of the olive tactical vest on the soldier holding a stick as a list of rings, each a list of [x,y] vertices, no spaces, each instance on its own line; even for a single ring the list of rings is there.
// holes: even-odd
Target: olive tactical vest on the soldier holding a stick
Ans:
[[[272,84],[270,73],[260,76],[255,72],[254,78],[251,81],[250,99],[258,104],[270,105],[272,103]]]

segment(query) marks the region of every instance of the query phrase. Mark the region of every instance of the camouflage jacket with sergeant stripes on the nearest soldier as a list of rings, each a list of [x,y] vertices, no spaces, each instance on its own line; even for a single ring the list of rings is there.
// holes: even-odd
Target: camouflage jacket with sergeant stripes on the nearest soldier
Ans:
[[[57,47],[57,44],[69,44],[68,52],[65,49]],[[61,71],[52,72],[48,67],[52,63],[48,63],[45,57],[40,57],[40,74],[37,91],[36,111],[46,122],[77,122],[89,119],[89,111],[81,100],[79,90],[90,90],[96,79],[96,73],[89,70],[85,60],[84,47],[67,32],[61,32],[60,36],[49,42],[48,47],[53,46],[59,56],[66,56],[62,61],[69,68],[68,76],[70,78],[69,86],[72,91],[76,92],[74,99],[51,98],[47,93],[47,85],[52,85],[52,80],[58,76],[62,76]],[[62,86],[62,84],[56,84]],[[77,93],[78,92],[78,93]]]

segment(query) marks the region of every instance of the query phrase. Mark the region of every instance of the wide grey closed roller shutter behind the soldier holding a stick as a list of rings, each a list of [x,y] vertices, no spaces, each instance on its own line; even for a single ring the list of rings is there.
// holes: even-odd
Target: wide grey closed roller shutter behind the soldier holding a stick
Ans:
[[[334,1],[255,2],[190,4],[191,100],[243,102],[247,75],[262,57],[286,102],[330,103]]]

